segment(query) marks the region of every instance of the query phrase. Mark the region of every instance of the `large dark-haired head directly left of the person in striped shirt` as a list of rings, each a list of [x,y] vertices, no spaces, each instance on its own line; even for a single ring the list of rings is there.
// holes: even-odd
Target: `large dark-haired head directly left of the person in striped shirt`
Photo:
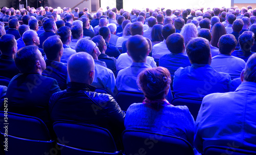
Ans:
[[[191,64],[209,63],[210,45],[209,41],[205,38],[196,37],[191,39],[187,43],[186,52]]]

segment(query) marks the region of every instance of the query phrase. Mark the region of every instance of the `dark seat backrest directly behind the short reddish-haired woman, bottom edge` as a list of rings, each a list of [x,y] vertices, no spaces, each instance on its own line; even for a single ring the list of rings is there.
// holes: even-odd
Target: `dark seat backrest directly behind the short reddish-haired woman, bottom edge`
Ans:
[[[160,132],[124,130],[122,139],[125,154],[194,154],[193,147],[186,140]]]

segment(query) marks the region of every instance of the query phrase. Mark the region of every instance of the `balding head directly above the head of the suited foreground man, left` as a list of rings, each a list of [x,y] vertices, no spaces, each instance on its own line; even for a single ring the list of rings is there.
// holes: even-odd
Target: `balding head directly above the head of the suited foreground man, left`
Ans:
[[[34,31],[34,30],[28,30],[28,31],[24,32],[22,35],[22,39],[26,46],[28,46],[28,45],[38,46],[39,45],[39,37],[38,37],[36,31]]]

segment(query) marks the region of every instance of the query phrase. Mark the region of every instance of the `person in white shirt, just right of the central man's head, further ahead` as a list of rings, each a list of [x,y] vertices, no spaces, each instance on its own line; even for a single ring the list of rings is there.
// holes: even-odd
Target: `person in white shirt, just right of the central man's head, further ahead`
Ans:
[[[170,53],[170,51],[166,47],[166,39],[169,35],[175,33],[175,27],[172,24],[167,24],[162,28],[161,31],[164,40],[153,46],[152,57],[154,59],[159,59],[162,55]]]

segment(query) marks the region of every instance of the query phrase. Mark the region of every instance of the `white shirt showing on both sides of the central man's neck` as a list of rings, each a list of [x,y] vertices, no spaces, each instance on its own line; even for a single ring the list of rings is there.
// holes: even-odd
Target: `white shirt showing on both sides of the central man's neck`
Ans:
[[[125,69],[126,67],[130,67],[133,63],[132,58],[127,53],[122,53],[119,55],[117,61],[116,61],[116,70],[120,71],[122,69]],[[146,57],[146,63],[151,65],[152,68],[156,68],[156,62],[154,61],[154,58],[147,56]]]

